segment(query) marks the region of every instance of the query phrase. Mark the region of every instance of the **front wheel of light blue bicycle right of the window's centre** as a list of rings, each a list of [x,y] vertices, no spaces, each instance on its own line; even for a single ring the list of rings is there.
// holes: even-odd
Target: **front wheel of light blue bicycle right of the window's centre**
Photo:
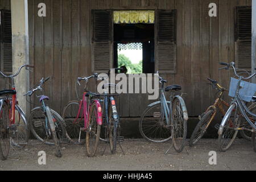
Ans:
[[[167,105],[168,105],[168,107],[170,107],[170,103],[167,103]],[[169,127],[165,127],[164,123],[160,123],[160,121],[157,121],[157,119],[155,119],[155,118],[158,118],[158,117],[152,117],[152,115],[154,115],[154,113],[156,113],[156,114],[160,113],[160,115],[162,115],[162,111],[161,111],[161,109],[159,109],[159,107],[161,108],[161,103],[147,107],[146,110],[144,110],[144,112],[142,114],[141,120],[139,121],[139,132],[141,133],[142,137],[144,139],[146,139],[148,142],[163,143],[163,142],[167,142],[168,140],[171,139],[171,129]],[[159,110],[160,110],[160,112],[159,112]],[[153,112],[153,113],[150,113],[150,112]],[[165,118],[165,116],[164,116],[164,118]],[[164,118],[163,118],[163,120],[164,120]],[[162,120],[162,118],[160,118],[160,119]],[[154,125],[152,127],[152,130],[155,131],[155,134],[152,134],[151,129],[149,129],[149,131],[145,131],[143,129],[145,123],[147,123],[147,122],[149,122],[149,123],[155,122],[156,125],[159,125],[159,127],[157,129],[154,127]],[[161,125],[163,125],[163,127]],[[159,130],[164,131],[164,133],[166,133],[166,134],[157,133]],[[151,136],[154,136],[154,137],[151,137]],[[155,136],[157,136],[157,137],[155,137]]]

